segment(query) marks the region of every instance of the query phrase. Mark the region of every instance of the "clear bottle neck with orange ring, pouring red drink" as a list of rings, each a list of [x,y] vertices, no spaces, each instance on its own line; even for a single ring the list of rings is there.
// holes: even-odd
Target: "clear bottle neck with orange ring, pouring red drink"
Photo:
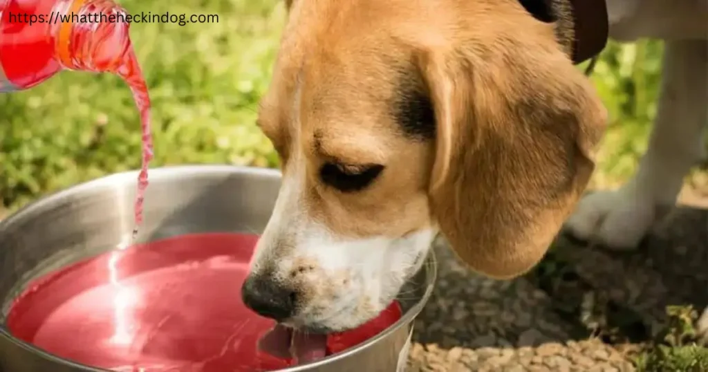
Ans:
[[[115,72],[130,48],[127,12],[112,0],[66,0],[52,25],[59,64],[67,69]]]

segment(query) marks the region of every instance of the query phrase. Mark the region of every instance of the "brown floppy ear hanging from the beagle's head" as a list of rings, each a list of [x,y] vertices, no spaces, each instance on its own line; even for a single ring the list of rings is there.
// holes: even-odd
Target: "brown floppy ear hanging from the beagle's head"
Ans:
[[[588,184],[605,128],[605,108],[568,57],[530,44],[419,55],[437,130],[431,208],[459,258],[493,278],[542,259]]]

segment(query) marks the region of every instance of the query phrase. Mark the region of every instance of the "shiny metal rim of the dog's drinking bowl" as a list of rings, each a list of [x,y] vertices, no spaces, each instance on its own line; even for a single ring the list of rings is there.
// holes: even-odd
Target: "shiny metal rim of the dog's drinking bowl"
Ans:
[[[155,179],[169,179],[173,177],[175,174],[224,174],[224,175],[229,175],[229,174],[254,174],[258,176],[266,176],[266,177],[277,177],[280,179],[282,176],[282,173],[278,169],[271,169],[271,168],[264,168],[264,167],[246,167],[246,166],[236,166],[236,165],[221,165],[221,164],[182,164],[182,165],[168,165],[165,167],[157,167],[157,168],[152,168],[149,169],[149,176],[152,178],[152,181]],[[131,171],[122,171],[122,172],[117,172],[113,174],[107,174],[105,176],[100,176],[96,179],[92,179],[89,181],[84,181],[79,184],[73,185],[73,186],[68,186],[67,188],[63,188],[59,191],[55,191],[52,193],[47,193],[47,195],[42,196],[40,198],[35,199],[34,201],[31,201],[27,205],[24,205],[23,207],[19,208],[16,210],[14,213],[11,213],[10,215],[6,216],[6,218],[0,220],[0,234],[2,234],[3,230],[5,230],[7,227],[11,227],[13,224],[22,222],[25,220],[25,218],[30,217],[31,215],[34,215],[36,213],[41,213],[42,210],[45,210],[45,208],[49,208],[51,205],[58,203],[60,200],[67,196],[74,196],[77,193],[81,193],[87,190],[91,190],[94,188],[102,188],[102,187],[107,187],[107,186],[115,186],[117,183],[122,183],[122,184],[136,184],[137,185],[137,176],[139,175],[139,170],[131,170]],[[151,181],[151,182],[152,182]],[[149,186],[148,186],[149,187]],[[434,243],[432,243],[434,244]],[[0,249],[2,249],[0,247]],[[359,354],[360,352],[364,351],[365,349],[370,348],[380,340],[389,337],[392,333],[396,332],[397,330],[401,329],[402,327],[405,327],[406,325],[411,325],[411,334],[412,334],[412,323],[413,320],[418,317],[418,315],[421,313],[423,310],[423,307],[428,303],[428,300],[430,300],[430,296],[433,293],[433,288],[435,287],[435,282],[438,279],[438,260],[435,257],[435,252],[433,251],[432,247],[428,250],[428,257],[426,257],[426,260],[423,263],[423,266],[421,266],[421,269],[424,270],[424,282],[425,282],[425,288],[423,291],[423,295],[421,295],[421,298],[416,301],[414,305],[409,308],[406,312],[404,312],[403,315],[397,320],[394,324],[389,325],[386,329],[384,329],[382,332],[379,332],[375,337],[371,337],[370,339],[367,339],[365,342],[362,342],[356,346],[350,347],[349,349],[340,351],[336,354],[332,354],[330,356],[326,356],[323,359],[319,359],[318,361],[310,362],[310,363],[304,363],[304,364],[299,364],[297,366],[292,366],[288,368],[283,368],[283,369],[278,369],[273,372],[303,372],[303,371],[308,371],[312,368],[319,368],[322,366],[326,366],[332,362],[335,361],[341,361],[342,359],[347,359],[350,356],[355,356],[355,354]],[[85,372],[113,372],[108,369],[103,369],[103,368],[96,368],[93,366],[88,366],[82,363],[77,363],[75,361],[71,361],[69,359],[64,359],[60,356],[57,356],[55,354],[51,354],[50,352],[44,351],[40,349],[38,346],[35,346],[33,344],[30,344],[29,342],[25,342],[21,339],[18,339],[17,337],[14,337],[13,334],[9,332],[7,327],[5,326],[4,322],[0,322],[0,337],[4,337],[8,339],[9,342],[12,342],[16,346],[19,346],[21,349],[25,349],[25,351],[37,354],[43,359],[47,359],[49,361],[52,361],[54,363],[59,363],[60,365],[67,366],[67,367],[72,367],[76,368]],[[407,342],[411,342],[410,336],[409,340]],[[406,346],[404,346],[406,347]]]

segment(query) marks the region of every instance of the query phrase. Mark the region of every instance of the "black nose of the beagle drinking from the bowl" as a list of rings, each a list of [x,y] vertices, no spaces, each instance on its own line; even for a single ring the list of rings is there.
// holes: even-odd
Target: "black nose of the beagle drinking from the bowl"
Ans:
[[[241,299],[251,310],[278,322],[295,312],[295,291],[263,275],[249,275],[241,286]]]

